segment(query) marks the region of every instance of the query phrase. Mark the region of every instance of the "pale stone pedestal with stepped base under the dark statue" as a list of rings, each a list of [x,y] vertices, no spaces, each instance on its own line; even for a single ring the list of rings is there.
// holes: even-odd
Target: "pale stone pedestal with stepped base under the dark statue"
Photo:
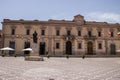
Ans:
[[[32,52],[30,53],[30,56],[26,56],[26,61],[44,61],[43,57],[39,56],[39,47],[37,43],[32,44]]]

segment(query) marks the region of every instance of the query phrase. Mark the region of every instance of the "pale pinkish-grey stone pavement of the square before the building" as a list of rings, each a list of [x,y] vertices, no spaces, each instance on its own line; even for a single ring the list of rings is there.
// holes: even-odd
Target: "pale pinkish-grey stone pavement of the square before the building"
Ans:
[[[0,57],[0,80],[120,80],[120,58]]]

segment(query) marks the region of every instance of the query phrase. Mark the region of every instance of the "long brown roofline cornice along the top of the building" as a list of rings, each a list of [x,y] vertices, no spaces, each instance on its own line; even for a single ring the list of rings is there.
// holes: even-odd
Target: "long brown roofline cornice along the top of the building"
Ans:
[[[80,26],[74,21],[67,21],[67,20],[48,20],[48,21],[39,21],[39,20],[10,20],[10,19],[4,19],[2,24],[12,24],[12,25],[52,25],[52,26],[58,26],[58,25],[64,25],[64,26]],[[120,24],[109,24],[107,22],[90,22],[86,21],[85,24],[81,26],[90,26],[90,27],[120,27]]]

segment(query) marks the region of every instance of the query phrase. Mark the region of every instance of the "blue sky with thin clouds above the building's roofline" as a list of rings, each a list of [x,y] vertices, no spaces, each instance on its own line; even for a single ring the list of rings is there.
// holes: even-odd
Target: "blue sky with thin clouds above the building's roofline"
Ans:
[[[72,20],[77,14],[86,21],[120,23],[120,0],[0,0],[0,22],[3,19]]]

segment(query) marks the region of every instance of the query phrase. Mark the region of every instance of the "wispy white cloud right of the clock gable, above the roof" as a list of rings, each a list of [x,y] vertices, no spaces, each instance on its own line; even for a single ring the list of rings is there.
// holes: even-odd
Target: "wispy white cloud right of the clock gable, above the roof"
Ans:
[[[92,12],[87,14],[86,19],[90,21],[95,20],[95,21],[103,21],[103,22],[110,22],[110,23],[120,23],[120,14]]]

